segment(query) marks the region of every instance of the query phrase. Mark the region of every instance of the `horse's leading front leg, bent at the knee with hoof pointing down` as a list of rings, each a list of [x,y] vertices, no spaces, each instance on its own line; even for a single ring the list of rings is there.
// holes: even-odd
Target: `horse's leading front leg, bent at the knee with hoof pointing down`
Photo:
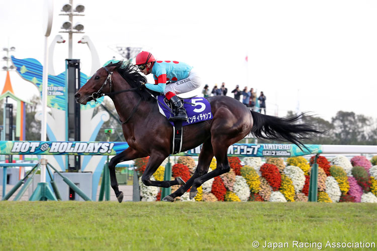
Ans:
[[[147,155],[142,154],[131,147],[128,147],[122,153],[114,156],[109,162],[109,170],[110,170],[110,180],[111,180],[111,187],[113,188],[115,195],[119,203],[123,200],[123,192],[120,192],[118,189],[118,181],[117,176],[115,175],[115,166],[123,161],[134,160],[137,158],[147,157]]]

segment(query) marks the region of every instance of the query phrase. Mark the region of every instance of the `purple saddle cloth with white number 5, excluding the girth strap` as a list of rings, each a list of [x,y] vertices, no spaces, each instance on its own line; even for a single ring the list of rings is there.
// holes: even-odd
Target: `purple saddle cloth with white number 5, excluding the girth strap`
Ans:
[[[160,113],[164,115],[165,117],[170,117],[170,111],[164,106],[161,105],[161,103],[165,104],[166,106],[170,107],[170,102],[165,98],[165,96],[159,95],[158,97],[158,107],[160,110]],[[161,102],[161,103],[160,103]],[[184,102],[192,103],[192,104],[186,104],[183,103],[183,107],[187,111],[187,117],[189,117],[188,121],[183,121],[182,126],[187,126],[187,124],[194,124],[198,122],[202,122],[205,120],[212,119],[213,115],[211,112],[211,105],[210,102],[204,97],[194,97],[194,98],[187,98],[184,99]],[[169,120],[172,126],[174,126],[174,123]]]

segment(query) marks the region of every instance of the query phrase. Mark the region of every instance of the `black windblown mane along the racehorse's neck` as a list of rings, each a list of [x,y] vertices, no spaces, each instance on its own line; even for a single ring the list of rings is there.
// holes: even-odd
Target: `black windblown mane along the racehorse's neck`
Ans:
[[[137,88],[141,86],[141,82],[146,83],[147,78],[141,75],[138,72],[138,68],[136,65],[133,65],[130,61],[124,63],[123,61],[119,61],[118,63],[110,63],[107,65],[108,67],[115,66],[114,71],[118,72],[131,86],[131,88]],[[143,87],[140,90],[135,91],[137,94],[140,95],[142,100],[147,101],[155,101],[155,99],[145,90],[146,87]],[[152,90],[148,90],[153,95],[157,96],[159,93],[154,92]]]

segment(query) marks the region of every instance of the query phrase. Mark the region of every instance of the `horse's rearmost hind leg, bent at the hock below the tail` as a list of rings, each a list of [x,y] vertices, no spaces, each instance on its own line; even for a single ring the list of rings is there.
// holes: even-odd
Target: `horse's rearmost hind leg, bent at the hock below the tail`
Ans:
[[[224,144],[224,142],[226,141],[221,140],[220,138],[217,138],[217,140],[212,140],[213,152],[217,161],[216,169],[195,179],[194,184],[190,190],[190,199],[194,198],[197,195],[198,187],[200,187],[204,182],[230,171],[227,156],[229,146],[227,144]]]

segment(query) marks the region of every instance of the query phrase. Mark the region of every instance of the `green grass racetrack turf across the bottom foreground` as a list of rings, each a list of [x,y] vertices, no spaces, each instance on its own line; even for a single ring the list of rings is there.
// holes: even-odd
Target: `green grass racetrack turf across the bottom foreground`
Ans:
[[[0,212],[0,250],[377,249],[325,247],[377,242],[377,205],[366,203],[2,201]]]

